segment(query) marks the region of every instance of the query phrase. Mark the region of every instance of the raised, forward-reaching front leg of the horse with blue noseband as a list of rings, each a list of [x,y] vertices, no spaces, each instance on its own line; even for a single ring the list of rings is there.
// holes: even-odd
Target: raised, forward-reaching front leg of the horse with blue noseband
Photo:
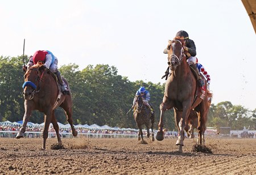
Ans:
[[[33,104],[28,104],[30,102],[28,102],[28,100],[24,101],[24,108],[25,108],[25,113],[23,116],[23,124],[22,127],[20,127],[19,133],[16,135],[16,139],[22,138],[25,131],[26,131],[26,126],[27,126],[27,122],[28,119],[30,119],[30,116],[32,114],[32,110],[33,110]]]

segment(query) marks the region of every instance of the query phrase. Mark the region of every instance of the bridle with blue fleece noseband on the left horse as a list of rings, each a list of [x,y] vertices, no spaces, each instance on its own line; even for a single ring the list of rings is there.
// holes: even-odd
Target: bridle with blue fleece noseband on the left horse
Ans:
[[[26,86],[31,86],[31,87],[33,88],[33,91],[32,91],[32,93],[31,93],[31,96],[30,96],[30,98],[29,98],[28,100],[33,99],[35,93],[40,92],[41,82],[42,82],[42,80],[44,80],[44,79],[43,79],[43,75],[44,75],[44,71],[45,71],[45,70],[43,70],[41,76],[38,75],[39,72],[38,72],[38,69],[36,69],[36,68],[29,69],[29,70],[26,72],[26,74],[27,74],[28,72],[32,71],[32,70],[36,70],[36,73],[37,73],[37,76],[36,76],[36,84],[33,83],[33,82],[31,82],[31,81],[27,81],[27,82],[24,82],[24,83],[23,83],[23,86],[22,86],[23,88],[25,88]],[[26,75],[26,74],[25,74],[25,75]]]

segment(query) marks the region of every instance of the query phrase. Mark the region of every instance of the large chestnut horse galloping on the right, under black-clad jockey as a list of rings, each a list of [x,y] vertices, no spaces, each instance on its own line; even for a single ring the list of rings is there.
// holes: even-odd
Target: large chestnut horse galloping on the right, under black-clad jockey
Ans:
[[[195,109],[200,113],[197,129],[199,130],[199,143],[202,144],[203,133],[206,129],[205,123],[207,121],[207,113],[209,110],[208,97],[212,96],[207,90],[207,87],[204,87],[204,95],[201,92],[197,92],[196,78],[185,59],[183,45],[185,45],[184,40],[176,38],[169,41],[167,46],[168,65],[171,69],[171,76],[167,79],[166,87],[164,89],[163,103],[160,104],[159,130],[156,134],[157,140],[164,139],[164,112],[174,108],[175,124],[179,130],[176,145],[179,145],[180,152],[182,152],[182,146],[184,146],[184,128],[191,109]],[[207,86],[206,82],[205,84]]]

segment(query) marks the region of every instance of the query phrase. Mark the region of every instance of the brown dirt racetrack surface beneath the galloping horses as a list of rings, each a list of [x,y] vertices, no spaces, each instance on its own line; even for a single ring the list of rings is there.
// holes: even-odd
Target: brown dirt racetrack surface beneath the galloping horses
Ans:
[[[46,151],[42,139],[0,138],[0,174],[256,174],[256,139],[207,139],[213,153],[183,153],[176,139],[142,144],[137,139],[63,139],[64,149]]]

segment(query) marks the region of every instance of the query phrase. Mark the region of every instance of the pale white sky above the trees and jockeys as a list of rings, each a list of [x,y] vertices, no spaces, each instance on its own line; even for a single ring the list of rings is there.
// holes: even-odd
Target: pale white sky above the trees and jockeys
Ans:
[[[163,84],[168,40],[189,34],[210,74],[213,104],[256,108],[256,35],[240,0],[0,1],[0,56],[50,50],[59,66],[115,66],[135,82]],[[22,65],[20,65],[22,66]]]

